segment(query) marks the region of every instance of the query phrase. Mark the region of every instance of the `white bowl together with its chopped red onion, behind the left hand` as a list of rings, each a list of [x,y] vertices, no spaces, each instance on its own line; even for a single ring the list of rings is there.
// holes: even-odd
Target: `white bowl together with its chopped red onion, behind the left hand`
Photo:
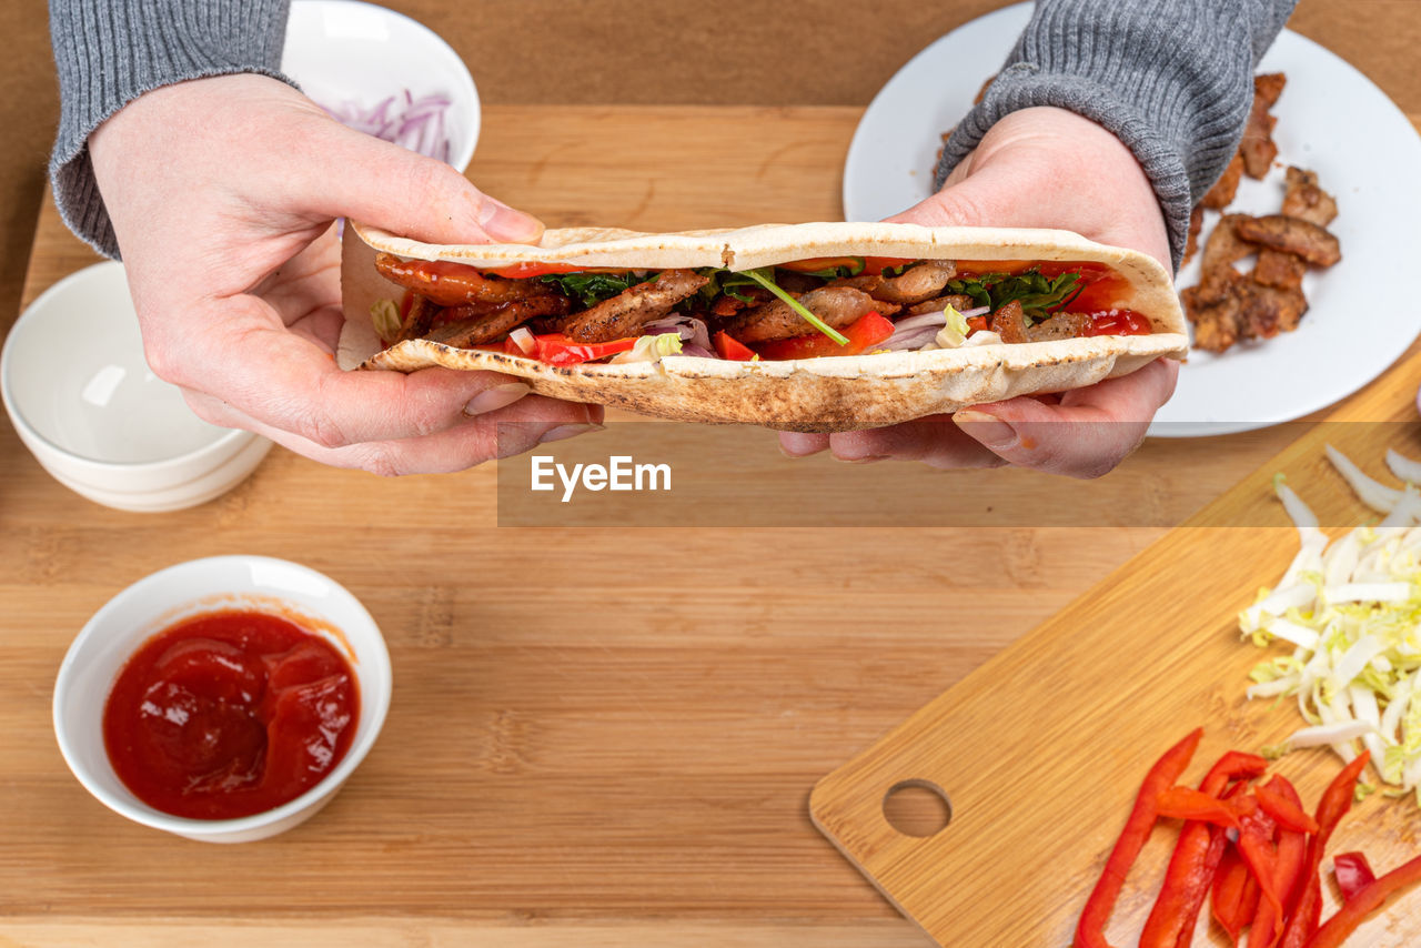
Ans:
[[[293,0],[281,71],[345,125],[469,168],[479,91],[429,27],[374,3]]]

